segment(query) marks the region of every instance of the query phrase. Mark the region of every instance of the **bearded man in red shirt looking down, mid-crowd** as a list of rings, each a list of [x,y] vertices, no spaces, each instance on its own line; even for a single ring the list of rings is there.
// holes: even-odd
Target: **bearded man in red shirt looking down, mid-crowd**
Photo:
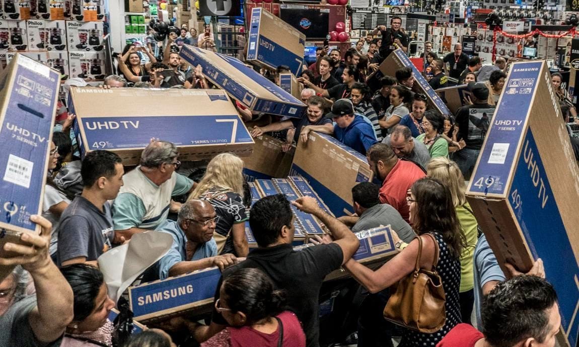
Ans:
[[[390,204],[410,223],[406,192],[426,174],[412,161],[398,159],[392,148],[384,143],[376,143],[370,147],[366,156],[370,168],[382,182],[380,202]]]

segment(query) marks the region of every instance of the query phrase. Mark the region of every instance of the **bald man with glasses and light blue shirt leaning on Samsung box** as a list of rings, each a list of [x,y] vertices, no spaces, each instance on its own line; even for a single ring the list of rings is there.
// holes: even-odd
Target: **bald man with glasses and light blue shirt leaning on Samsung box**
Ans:
[[[217,255],[213,239],[217,223],[215,209],[207,201],[190,200],[181,206],[177,222],[168,220],[157,231],[173,237],[171,249],[145,272],[143,282],[166,279],[217,266],[223,270],[237,264],[233,254]]]

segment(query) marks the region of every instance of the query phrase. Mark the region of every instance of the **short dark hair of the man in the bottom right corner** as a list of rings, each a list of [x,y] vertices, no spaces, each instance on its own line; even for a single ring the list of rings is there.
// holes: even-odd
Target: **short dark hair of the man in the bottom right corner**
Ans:
[[[552,285],[537,276],[515,276],[499,283],[482,303],[482,333],[496,347],[527,338],[543,343],[551,328],[546,312],[557,302]]]

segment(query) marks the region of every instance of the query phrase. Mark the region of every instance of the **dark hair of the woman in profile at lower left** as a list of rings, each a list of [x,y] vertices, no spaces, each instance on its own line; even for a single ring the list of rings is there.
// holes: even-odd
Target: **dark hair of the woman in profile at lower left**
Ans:
[[[94,311],[104,278],[98,268],[87,264],[72,264],[60,269],[74,294],[74,321],[82,322]]]

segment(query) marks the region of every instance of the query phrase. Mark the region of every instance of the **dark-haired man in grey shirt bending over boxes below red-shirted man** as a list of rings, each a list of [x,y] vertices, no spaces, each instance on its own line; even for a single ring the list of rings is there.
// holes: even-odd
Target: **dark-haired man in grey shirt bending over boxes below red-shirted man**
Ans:
[[[352,200],[358,217],[345,216],[339,219],[346,225],[350,224],[353,232],[390,225],[402,241],[411,242],[416,236],[412,227],[395,208],[389,204],[380,204],[379,191],[380,187],[370,182],[356,184],[352,188]]]

